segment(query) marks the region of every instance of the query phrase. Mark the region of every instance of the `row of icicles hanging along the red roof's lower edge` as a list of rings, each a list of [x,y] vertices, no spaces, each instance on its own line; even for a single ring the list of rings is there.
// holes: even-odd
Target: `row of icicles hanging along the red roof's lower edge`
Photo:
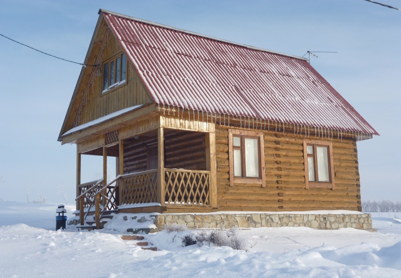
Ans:
[[[172,106],[172,108],[174,108],[174,106]],[[158,104],[158,110],[160,112],[160,110],[163,110],[163,115],[166,114],[166,110],[167,110],[167,114],[170,115],[170,113],[173,114],[173,116],[175,116],[176,114],[176,110],[172,109],[170,110],[170,106],[168,106],[168,108],[166,109],[165,106],[163,105],[163,108],[160,107],[160,104]],[[191,111],[192,111],[192,115],[191,115]],[[186,113],[186,112],[185,112]],[[205,117],[205,113],[206,113],[206,117]],[[181,114],[180,114],[180,108],[177,107],[177,116],[181,118],[184,117],[184,110],[181,109]],[[224,126],[226,126],[226,121],[227,121],[227,126],[230,126],[230,117],[232,120],[236,120],[237,122],[239,121],[240,123],[240,128],[248,128],[248,129],[265,129],[265,130],[275,130],[275,132],[278,131],[282,131],[283,134],[286,130],[286,126],[287,129],[292,130],[294,129],[294,134],[302,134],[304,132],[305,137],[309,138],[310,137],[310,132],[313,132],[314,134],[316,134],[316,136],[318,138],[329,138],[329,139],[333,139],[335,138],[335,134],[333,134],[333,130],[329,129],[329,128],[323,128],[323,127],[310,127],[310,126],[304,126],[302,124],[284,124],[284,123],[280,123],[280,122],[274,122],[274,121],[270,121],[270,120],[259,120],[259,119],[255,119],[255,118],[247,118],[244,116],[230,116],[230,115],[226,115],[226,114],[214,114],[213,113],[209,113],[209,112],[199,112],[199,111],[195,111],[195,110],[188,110],[188,118],[191,119],[193,118],[193,120],[195,121],[199,121],[201,120],[202,122],[205,122],[205,118],[206,118],[206,122],[212,122],[213,123],[213,118],[214,118],[214,123],[216,124],[217,122],[219,122],[219,124],[223,124]],[[217,120],[219,119],[219,121]],[[342,142],[342,134],[344,133],[345,137],[352,137],[352,138],[356,138],[357,141],[362,140],[362,138],[372,138],[371,134],[366,134],[363,132],[357,132],[357,131],[340,131],[340,130],[336,130],[337,132],[337,139],[340,139]]]

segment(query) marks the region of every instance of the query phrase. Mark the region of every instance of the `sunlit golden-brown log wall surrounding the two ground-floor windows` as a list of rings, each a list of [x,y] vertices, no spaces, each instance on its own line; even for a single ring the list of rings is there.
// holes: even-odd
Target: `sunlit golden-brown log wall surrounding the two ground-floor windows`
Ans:
[[[219,210],[360,210],[358,156],[354,140],[327,139],[333,145],[335,190],[306,189],[303,152],[305,137],[292,132],[273,131],[263,131],[266,187],[260,184],[229,186],[228,129],[227,126],[216,125]],[[318,139],[316,136],[310,138]]]

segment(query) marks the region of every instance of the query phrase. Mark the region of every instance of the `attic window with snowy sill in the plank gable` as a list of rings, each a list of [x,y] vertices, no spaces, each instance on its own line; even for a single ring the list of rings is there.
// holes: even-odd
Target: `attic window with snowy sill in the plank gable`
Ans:
[[[103,92],[123,84],[127,77],[127,56],[119,54],[103,64]]]

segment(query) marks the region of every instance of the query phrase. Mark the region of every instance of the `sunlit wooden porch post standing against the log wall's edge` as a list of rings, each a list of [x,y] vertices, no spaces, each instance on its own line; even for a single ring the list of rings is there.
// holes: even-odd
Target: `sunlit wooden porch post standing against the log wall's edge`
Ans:
[[[210,171],[209,196],[212,208],[217,208],[216,133],[206,134],[206,170]]]

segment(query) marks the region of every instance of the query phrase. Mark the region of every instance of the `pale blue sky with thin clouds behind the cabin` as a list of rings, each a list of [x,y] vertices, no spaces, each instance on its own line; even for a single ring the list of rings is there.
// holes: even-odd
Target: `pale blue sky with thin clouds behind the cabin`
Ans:
[[[382,0],[401,8],[399,0]],[[401,200],[401,11],[364,0],[47,1],[2,0],[0,33],[83,62],[103,8],[249,44],[304,55],[381,134],[358,142],[363,200]],[[0,199],[75,198],[75,145],[57,142],[81,66],[0,37]],[[83,182],[101,160],[83,158]]]

